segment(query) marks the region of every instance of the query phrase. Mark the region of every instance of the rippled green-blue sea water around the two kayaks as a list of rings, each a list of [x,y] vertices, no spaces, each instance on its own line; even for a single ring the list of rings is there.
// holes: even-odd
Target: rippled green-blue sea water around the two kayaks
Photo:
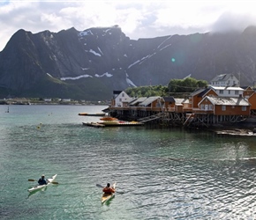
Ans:
[[[1,220],[256,218],[256,137],[82,125],[106,107],[0,106]],[[58,184],[29,194],[42,173]]]

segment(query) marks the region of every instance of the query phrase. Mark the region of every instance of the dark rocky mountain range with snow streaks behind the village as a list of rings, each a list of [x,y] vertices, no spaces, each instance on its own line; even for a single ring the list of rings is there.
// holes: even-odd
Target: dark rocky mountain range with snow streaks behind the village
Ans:
[[[256,27],[131,40],[119,26],[51,33],[19,30],[0,52],[0,98],[111,99],[128,86],[210,81],[233,73],[256,81]]]

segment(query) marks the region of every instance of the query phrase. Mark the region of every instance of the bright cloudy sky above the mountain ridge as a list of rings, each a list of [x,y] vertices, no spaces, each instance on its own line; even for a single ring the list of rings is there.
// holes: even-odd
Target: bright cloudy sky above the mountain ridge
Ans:
[[[0,0],[0,51],[19,29],[57,33],[119,26],[132,40],[174,34],[244,31],[256,26],[253,1]]]

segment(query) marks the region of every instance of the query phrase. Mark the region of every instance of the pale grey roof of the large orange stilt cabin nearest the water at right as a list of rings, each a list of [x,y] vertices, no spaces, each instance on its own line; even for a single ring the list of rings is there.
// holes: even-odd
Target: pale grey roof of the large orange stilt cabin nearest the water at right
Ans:
[[[250,103],[243,97],[234,98],[234,97],[207,96],[206,99],[208,99],[213,105],[217,105],[217,106],[250,106]]]

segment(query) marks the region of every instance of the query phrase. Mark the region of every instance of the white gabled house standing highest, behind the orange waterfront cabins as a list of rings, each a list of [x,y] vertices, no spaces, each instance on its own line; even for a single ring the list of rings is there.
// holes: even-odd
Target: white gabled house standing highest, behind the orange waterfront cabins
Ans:
[[[213,78],[210,85],[213,86],[239,86],[240,82],[234,74],[222,74]]]

